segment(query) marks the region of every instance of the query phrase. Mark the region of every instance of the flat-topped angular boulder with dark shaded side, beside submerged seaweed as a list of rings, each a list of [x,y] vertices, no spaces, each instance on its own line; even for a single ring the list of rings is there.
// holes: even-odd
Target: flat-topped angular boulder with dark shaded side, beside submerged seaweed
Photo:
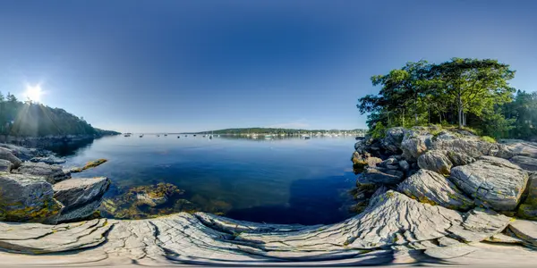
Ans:
[[[53,186],[54,197],[64,204],[64,212],[102,197],[110,186],[106,177],[63,180]]]

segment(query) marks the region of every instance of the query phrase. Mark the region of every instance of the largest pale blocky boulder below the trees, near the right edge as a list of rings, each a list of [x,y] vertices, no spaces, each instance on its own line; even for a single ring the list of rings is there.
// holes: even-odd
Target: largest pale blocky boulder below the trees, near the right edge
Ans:
[[[482,157],[451,169],[450,180],[476,203],[497,211],[513,211],[528,181],[528,173],[498,157]]]

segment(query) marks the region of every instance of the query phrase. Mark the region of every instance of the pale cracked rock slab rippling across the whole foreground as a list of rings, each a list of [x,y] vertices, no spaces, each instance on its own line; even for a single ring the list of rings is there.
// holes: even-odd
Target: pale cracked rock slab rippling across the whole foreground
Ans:
[[[388,190],[374,197],[362,214],[331,225],[261,224],[202,213],[139,221],[0,223],[0,247],[9,252],[38,254],[23,259],[27,263],[21,260],[22,255],[0,254],[0,259],[3,264],[5,260],[39,264],[37,260],[42,259],[44,263],[40,264],[83,266],[405,264],[434,260],[433,256],[458,258],[473,252],[451,249],[464,245],[450,238],[453,226],[489,234],[504,223],[496,214],[461,214]],[[449,248],[435,254],[439,247]],[[430,255],[422,253],[429,249]],[[55,255],[47,255],[50,253]]]

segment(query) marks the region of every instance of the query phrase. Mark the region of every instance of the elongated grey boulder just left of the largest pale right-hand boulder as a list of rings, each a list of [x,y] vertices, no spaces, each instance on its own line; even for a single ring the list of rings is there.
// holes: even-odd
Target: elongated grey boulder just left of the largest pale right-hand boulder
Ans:
[[[401,182],[397,189],[408,197],[430,205],[464,211],[473,207],[472,199],[465,197],[453,182],[429,170],[416,172]]]

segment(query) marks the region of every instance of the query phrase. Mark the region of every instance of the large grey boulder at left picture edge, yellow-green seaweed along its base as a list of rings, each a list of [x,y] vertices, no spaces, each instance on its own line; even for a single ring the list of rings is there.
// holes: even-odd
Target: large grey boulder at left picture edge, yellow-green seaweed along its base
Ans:
[[[0,221],[54,223],[63,208],[47,180],[0,173]]]

